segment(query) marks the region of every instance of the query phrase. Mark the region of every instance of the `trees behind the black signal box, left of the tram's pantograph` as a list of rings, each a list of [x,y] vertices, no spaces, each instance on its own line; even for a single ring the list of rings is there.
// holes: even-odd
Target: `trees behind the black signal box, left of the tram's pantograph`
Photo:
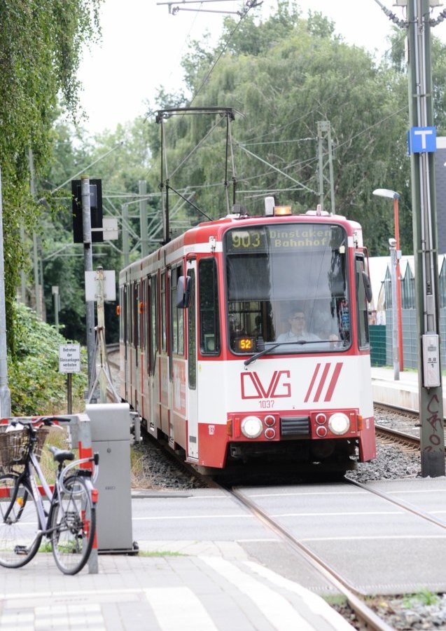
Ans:
[[[120,217],[123,203],[130,202],[131,228],[134,233],[139,234],[138,183],[139,180],[146,179],[150,168],[148,138],[151,133],[151,125],[144,118],[137,118],[132,125],[118,125],[113,132],[97,135],[94,142],[75,146],[71,128],[64,124],[57,125],[54,130],[54,161],[41,182],[43,192],[39,189],[39,196],[46,196],[45,189],[54,190],[73,173],[81,170],[83,165],[95,163],[85,175],[92,179],[102,179],[104,215]],[[148,194],[153,194],[148,204],[148,216],[151,217],[158,208],[160,196],[158,189],[150,187]],[[68,338],[85,341],[83,246],[73,243],[71,189],[59,190],[53,196],[48,196],[48,199],[52,201],[53,208],[44,212],[41,219],[46,313],[48,320],[54,322],[51,287],[58,285],[61,306],[59,321],[64,325],[62,333]],[[158,224],[159,219],[155,222],[157,229]],[[120,238],[122,239],[121,230]],[[130,240],[133,246],[132,236]],[[159,240],[160,238],[157,243]],[[119,241],[95,243],[93,269],[100,264],[106,270],[116,270],[119,273],[123,261],[115,246],[122,247],[122,244]],[[138,257],[140,252],[138,248],[132,256]],[[117,341],[117,334],[115,305],[106,303],[106,341]]]

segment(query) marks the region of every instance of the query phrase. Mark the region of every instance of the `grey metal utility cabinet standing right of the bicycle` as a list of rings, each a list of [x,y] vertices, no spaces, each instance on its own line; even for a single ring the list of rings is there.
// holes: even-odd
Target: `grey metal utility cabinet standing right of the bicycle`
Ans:
[[[85,406],[93,452],[99,453],[96,487],[99,552],[135,552],[132,537],[130,479],[130,407],[128,403]]]

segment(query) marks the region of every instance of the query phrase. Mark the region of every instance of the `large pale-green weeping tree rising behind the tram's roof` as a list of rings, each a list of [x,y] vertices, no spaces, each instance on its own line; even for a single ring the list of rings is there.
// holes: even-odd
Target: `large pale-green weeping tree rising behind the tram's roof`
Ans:
[[[221,57],[210,74],[209,55],[201,49],[195,63],[193,52],[186,57],[186,69],[195,107],[233,107],[244,114],[236,115],[232,125],[238,202],[251,214],[261,214],[263,196],[274,193],[295,210],[316,208],[317,123],[330,121],[336,210],[361,222],[370,252],[384,254],[393,219],[372,198],[372,190],[388,182],[399,190],[407,187],[405,78],[395,68],[377,64],[363,48],[344,43],[330,20],[318,13],[304,20],[286,2],[265,22],[247,16],[237,29],[235,25],[225,19],[221,42],[210,55]],[[167,121],[172,170],[216,122],[209,117]],[[177,189],[192,187],[195,201],[211,217],[227,212],[223,186],[217,187],[225,179],[225,133],[224,125],[218,125],[171,182]],[[407,252],[412,240],[405,240],[404,225],[403,217]]]

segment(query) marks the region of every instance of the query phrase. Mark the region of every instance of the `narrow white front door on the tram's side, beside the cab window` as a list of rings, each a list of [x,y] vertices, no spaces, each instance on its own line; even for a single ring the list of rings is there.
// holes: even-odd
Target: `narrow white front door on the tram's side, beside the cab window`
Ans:
[[[188,318],[188,458],[198,458],[198,394],[197,394],[197,262],[187,263],[190,277]]]

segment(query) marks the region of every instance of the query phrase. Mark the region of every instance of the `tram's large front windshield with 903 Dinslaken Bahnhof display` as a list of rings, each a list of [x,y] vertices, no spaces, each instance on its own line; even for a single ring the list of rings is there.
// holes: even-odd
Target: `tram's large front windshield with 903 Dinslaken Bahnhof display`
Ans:
[[[286,223],[230,229],[225,262],[232,351],[317,353],[349,346],[347,233],[342,226]]]

